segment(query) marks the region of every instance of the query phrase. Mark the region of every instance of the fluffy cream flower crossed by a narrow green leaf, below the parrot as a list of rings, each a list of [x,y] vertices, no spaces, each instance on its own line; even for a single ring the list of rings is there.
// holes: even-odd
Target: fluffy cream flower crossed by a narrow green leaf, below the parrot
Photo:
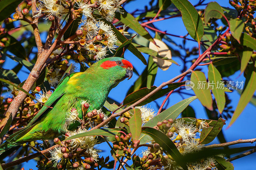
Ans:
[[[81,127],[79,127],[77,130],[71,131],[69,137],[74,136],[79,133],[84,133],[87,131],[88,130],[81,129]],[[79,138],[71,139],[71,142],[70,142],[70,145],[72,148],[79,147],[81,149],[93,147],[95,144],[96,144],[96,139],[93,136],[79,137]]]

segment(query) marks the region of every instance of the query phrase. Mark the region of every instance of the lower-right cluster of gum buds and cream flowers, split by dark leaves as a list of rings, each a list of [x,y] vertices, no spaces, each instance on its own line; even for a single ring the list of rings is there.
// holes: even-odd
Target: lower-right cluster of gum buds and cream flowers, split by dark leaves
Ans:
[[[196,137],[196,133],[199,133],[200,137],[200,132],[205,127],[209,127],[208,123],[200,119],[193,120],[191,123],[184,123],[183,119],[175,120],[174,122],[172,119],[169,119],[168,121],[165,120],[163,122],[158,122],[157,126],[154,128],[159,128],[159,130],[163,131],[168,137],[170,137],[177,146],[179,152],[182,155],[185,155],[202,149],[204,145],[199,144],[200,138]],[[171,170],[181,168],[172,159],[171,155],[168,153],[165,154],[166,156],[161,158],[161,163],[163,164],[164,169]],[[216,168],[213,158],[205,158],[200,159],[200,161],[197,162],[190,162],[187,166],[189,170],[210,170]]]

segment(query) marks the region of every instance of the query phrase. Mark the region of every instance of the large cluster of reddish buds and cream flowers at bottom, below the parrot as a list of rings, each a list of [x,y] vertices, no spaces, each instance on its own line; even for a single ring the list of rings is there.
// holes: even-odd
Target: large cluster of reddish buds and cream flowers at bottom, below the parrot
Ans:
[[[79,127],[75,131],[67,132],[65,134],[65,138],[72,137],[86,131],[86,129]],[[50,151],[51,158],[49,158],[49,160],[53,165],[56,165],[57,169],[82,170],[99,166],[109,166],[108,164],[106,165],[109,157],[106,158],[105,161],[103,157],[99,159],[98,152],[100,151],[96,149],[97,139],[93,136],[70,139],[62,143],[59,138],[55,138],[53,141],[59,146]],[[40,162],[40,164],[42,165],[39,166],[41,169],[44,169],[47,166],[47,163],[45,162]]]

